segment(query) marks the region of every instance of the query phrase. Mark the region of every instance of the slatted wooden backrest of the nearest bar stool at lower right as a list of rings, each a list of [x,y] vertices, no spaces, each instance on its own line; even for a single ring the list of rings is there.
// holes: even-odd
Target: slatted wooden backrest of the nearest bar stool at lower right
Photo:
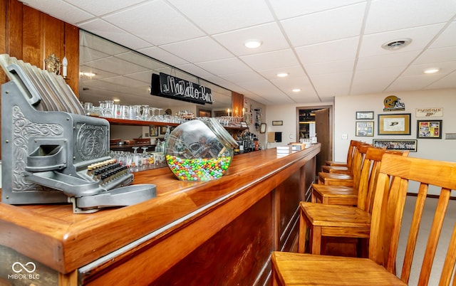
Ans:
[[[395,273],[405,198],[409,186],[414,187],[411,181],[419,187],[400,273],[400,279],[405,283],[410,277],[425,201],[435,199],[427,198],[427,191],[430,187],[440,189],[418,281],[418,285],[427,285],[451,191],[456,189],[456,163],[383,154],[372,210],[369,258]],[[439,285],[450,285],[455,261],[456,228],[452,232]]]

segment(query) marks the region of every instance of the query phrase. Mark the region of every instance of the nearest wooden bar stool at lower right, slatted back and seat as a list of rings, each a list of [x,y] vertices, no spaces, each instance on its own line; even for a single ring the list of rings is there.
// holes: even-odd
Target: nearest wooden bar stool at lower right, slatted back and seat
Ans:
[[[405,255],[398,258],[398,240],[409,184],[416,184],[418,197],[410,230],[401,233],[408,238]],[[427,190],[430,188],[440,189],[440,196],[429,234],[423,240],[426,246],[418,285],[428,285],[448,202],[452,190],[456,190],[456,163],[393,154],[384,154],[380,166],[371,216],[368,258],[273,252],[272,285],[408,285],[421,218],[428,199]],[[398,276],[395,275],[396,258],[403,259],[403,268]],[[440,270],[439,285],[450,285],[455,264],[456,226]],[[432,271],[438,272],[436,269]]]

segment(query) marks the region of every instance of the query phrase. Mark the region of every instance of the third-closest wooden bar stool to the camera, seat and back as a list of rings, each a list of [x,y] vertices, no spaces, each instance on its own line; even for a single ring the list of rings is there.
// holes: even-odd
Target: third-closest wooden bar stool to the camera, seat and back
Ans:
[[[409,151],[393,151],[380,149],[382,151],[366,153],[363,161],[363,168],[361,169],[361,176],[358,176],[353,183],[353,187],[350,186],[326,186],[321,184],[312,184],[311,202],[323,203],[323,204],[336,204],[341,206],[356,206],[358,203],[358,189],[361,186],[366,187],[368,182],[371,180],[371,170],[365,169],[365,164],[368,161],[373,161],[373,168],[380,168],[380,161],[383,154],[396,154],[398,156],[408,157]],[[378,162],[375,164],[375,162]]]

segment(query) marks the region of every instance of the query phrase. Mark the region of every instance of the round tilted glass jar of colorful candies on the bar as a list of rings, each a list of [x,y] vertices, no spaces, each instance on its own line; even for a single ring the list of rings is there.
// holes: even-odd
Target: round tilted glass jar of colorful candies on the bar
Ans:
[[[214,118],[191,120],[177,126],[165,142],[165,159],[182,181],[222,177],[232,161],[237,142]]]

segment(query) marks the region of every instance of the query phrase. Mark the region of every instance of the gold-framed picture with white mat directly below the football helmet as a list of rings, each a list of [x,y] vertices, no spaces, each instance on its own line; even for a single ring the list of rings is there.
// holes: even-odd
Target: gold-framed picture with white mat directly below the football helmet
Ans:
[[[378,135],[410,135],[410,113],[378,115]]]

